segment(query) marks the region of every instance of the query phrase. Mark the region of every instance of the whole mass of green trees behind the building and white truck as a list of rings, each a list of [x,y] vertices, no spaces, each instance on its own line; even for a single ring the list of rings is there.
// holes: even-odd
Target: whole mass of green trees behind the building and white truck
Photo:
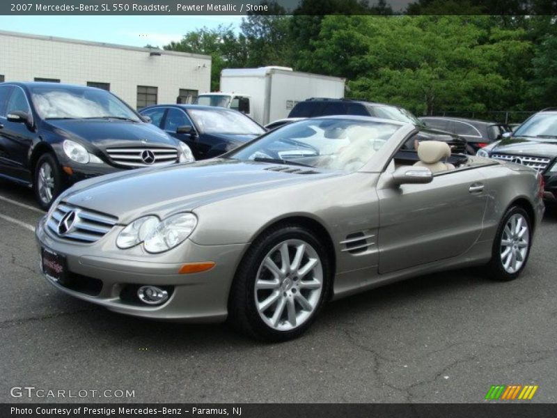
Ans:
[[[479,13],[499,3],[463,0],[455,7]],[[530,3],[544,10],[541,0]],[[400,104],[416,114],[555,105],[555,17],[362,14],[392,15],[384,0],[372,6],[302,0],[289,16],[276,2],[267,4],[268,13],[245,17],[239,31],[204,28],[164,48],[212,56],[214,89],[223,68],[285,65],[345,77],[347,97]],[[524,1],[512,6],[519,10]],[[439,13],[440,7],[439,0],[419,0],[408,13]]]

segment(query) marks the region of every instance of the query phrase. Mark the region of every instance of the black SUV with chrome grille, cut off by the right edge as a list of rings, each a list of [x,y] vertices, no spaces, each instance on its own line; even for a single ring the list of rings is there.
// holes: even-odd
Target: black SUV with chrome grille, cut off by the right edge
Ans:
[[[557,201],[557,111],[540,111],[493,146],[478,151],[482,157],[517,162],[542,173],[544,198]]]

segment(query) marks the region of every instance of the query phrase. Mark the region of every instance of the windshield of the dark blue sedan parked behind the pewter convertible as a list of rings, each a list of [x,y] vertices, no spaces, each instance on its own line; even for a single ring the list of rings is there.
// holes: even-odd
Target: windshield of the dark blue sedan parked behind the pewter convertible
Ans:
[[[260,135],[265,130],[247,116],[225,109],[189,109],[189,117],[204,134]]]

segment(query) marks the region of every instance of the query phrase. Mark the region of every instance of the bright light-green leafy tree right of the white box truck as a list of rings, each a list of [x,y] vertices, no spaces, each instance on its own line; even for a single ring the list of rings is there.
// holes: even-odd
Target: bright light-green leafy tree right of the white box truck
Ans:
[[[508,33],[492,36],[483,29],[488,19],[328,16],[306,65],[347,77],[351,97],[400,104],[417,114],[485,111],[490,98],[510,88],[497,71],[505,49],[527,47]]]

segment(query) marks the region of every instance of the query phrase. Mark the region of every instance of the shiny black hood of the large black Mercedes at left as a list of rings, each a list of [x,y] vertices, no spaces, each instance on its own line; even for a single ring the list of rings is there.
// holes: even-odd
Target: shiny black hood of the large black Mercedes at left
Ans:
[[[104,121],[101,119],[47,120],[51,129],[61,137],[81,139],[100,148],[107,146],[129,146],[130,142],[141,144],[176,146],[177,142],[151,123],[127,121]]]

